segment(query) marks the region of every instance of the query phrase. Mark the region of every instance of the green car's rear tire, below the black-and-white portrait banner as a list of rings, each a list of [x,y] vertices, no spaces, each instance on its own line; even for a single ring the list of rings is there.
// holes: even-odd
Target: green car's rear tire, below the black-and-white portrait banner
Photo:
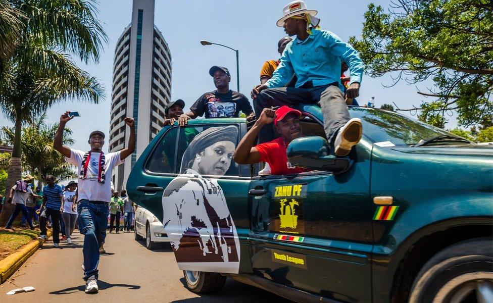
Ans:
[[[184,270],[183,276],[188,289],[195,293],[216,292],[226,283],[226,277],[219,273]]]

